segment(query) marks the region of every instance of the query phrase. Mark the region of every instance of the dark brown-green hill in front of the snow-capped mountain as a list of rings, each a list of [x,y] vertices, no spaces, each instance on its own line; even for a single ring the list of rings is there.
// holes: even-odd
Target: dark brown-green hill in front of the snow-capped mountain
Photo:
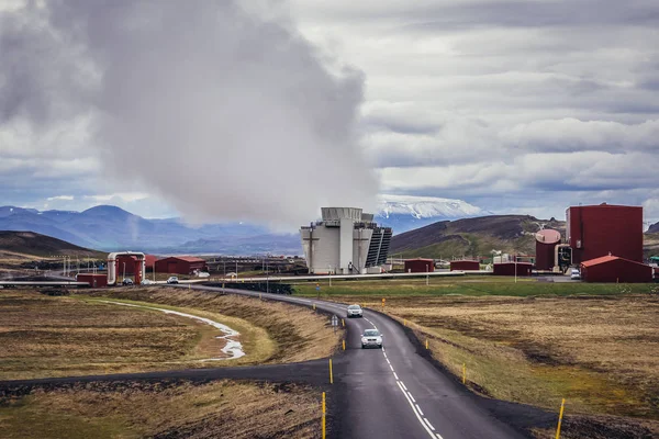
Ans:
[[[554,228],[565,237],[565,222],[529,215],[490,215],[442,221],[393,236],[390,256],[451,258],[488,256],[492,250],[535,254],[534,234]]]

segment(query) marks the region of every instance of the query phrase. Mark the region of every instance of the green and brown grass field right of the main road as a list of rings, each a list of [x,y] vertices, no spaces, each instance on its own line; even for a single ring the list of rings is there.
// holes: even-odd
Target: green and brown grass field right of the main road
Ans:
[[[315,284],[297,284],[315,296]],[[435,359],[496,398],[659,420],[659,285],[510,278],[326,282],[321,297],[406,323]],[[657,426],[655,426],[657,427]],[[659,429],[657,430],[659,434]]]

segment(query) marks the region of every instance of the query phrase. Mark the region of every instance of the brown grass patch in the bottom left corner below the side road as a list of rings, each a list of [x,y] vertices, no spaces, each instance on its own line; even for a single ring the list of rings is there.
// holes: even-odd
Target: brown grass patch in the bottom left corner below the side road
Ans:
[[[23,438],[320,437],[320,392],[298,385],[89,383],[0,395],[0,436]]]

